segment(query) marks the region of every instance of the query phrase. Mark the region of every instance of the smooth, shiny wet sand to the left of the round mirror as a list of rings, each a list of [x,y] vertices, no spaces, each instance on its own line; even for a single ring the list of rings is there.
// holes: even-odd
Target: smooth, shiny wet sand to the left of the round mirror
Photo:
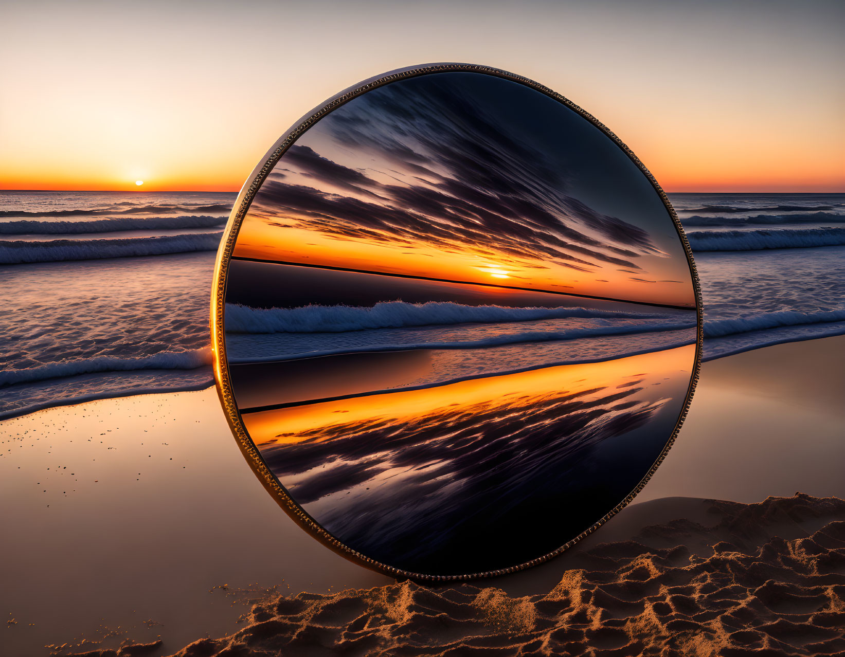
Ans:
[[[237,627],[243,609],[210,593],[215,586],[389,581],[286,517],[243,460],[213,388],[43,410],[2,426],[0,611],[17,622],[0,654],[46,654],[46,644],[112,632],[107,645],[161,635],[175,650]]]

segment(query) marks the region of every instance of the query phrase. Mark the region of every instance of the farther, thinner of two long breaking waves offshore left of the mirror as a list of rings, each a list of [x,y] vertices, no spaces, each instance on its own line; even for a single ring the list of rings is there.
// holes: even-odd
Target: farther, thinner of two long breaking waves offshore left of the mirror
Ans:
[[[182,217],[110,217],[80,221],[19,220],[0,222],[0,235],[72,235],[74,233],[107,233],[112,231],[144,231],[162,228],[210,228],[223,225],[226,217],[191,214]]]

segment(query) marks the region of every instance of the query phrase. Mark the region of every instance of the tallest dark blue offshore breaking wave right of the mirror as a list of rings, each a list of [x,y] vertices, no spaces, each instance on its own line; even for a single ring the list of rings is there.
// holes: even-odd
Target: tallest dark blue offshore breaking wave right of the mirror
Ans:
[[[831,247],[845,244],[845,228],[758,231],[693,231],[693,251],[758,251],[769,248]]]

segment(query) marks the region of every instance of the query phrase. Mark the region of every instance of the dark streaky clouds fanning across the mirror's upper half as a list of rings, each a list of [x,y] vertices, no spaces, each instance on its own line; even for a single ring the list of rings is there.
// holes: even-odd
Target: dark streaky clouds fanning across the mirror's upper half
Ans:
[[[423,242],[489,257],[504,252],[523,264],[552,260],[585,272],[605,263],[641,269],[636,258],[655,251],[648,233],[567,195],[567,171],[512,137],[510,128],[449,76],[389,84],[312,130],[352,149],[362,162],[369,162],[368,154],[386,157],[401,182],[379,182],[366,168],[320,155],[305,144],[306,133],[279,167],[335,193],[270,176],[254,207],[270,220],[294,220],[339,239],[399,247]]]

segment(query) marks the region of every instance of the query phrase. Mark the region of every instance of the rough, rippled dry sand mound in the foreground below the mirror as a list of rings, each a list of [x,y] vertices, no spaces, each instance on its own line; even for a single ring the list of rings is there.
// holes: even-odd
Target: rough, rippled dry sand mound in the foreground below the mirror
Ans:
[[[705,522],[582,551],[546,595],[493,580],[275,596],[239,632],[177,654],[845,653],[845,501],[695,504]]]

